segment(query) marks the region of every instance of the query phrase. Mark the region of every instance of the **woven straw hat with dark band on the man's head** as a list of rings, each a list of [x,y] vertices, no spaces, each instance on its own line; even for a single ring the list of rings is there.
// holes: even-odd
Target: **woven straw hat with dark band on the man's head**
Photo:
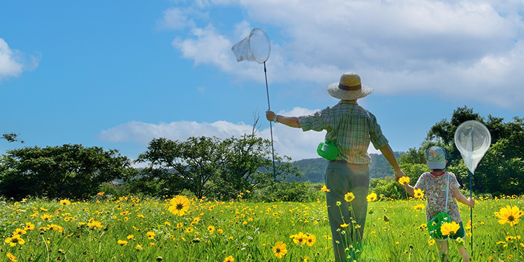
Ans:
[[[361,77],[356,73],[348,72],[342,74],[340,82],[328,85],[328,93],[335,99],[355,100],[371,94],[373,89],[362,85]]]

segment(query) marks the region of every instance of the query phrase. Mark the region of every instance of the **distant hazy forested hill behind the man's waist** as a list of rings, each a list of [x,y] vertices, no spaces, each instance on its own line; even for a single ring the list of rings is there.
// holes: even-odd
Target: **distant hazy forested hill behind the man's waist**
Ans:
[[[398,159],[402,152],[395,152],[395,157]],[[382,154],[370,154],[372,163],[370,164],[370,177],[383,178],[393,175],[393,169]],[[324,175],[326,174],[326,166],[328,161],[319,157],[318,159],[302,159],[295,163],[302,177],[289,177],[288,182],[305,182],[323,183]]]

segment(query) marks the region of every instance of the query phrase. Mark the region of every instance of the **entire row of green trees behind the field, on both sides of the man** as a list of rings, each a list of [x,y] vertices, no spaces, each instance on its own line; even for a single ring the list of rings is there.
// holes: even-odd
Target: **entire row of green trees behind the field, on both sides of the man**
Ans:
[[[397,155],[398,161],[412,183],[428,171],[425,151],[433,146],[448,152],[447,170],[457,175],[460,184],[470,187],[469,170],[454,144],[457,127],[467,120],[482,122],[488,127],[492,141],[472,177],[475,194],[521,195],[524,193],[524,119],[514,117],[504,122],[501,117],[481,117],[466,106],[453,111],[451,119],[442,119],[431,126],[420,147]],[[20,141],[17,134],[4,134],[8,142]],[[21,141],[22,142],[22,141]],[[321,159],[322,160],[322,159]],[[289,157],[275,154],[277,183],[299,181],[298,166]],[[405,192],[388,178],[391,169],[377,163],[371,190],[382,198],[402,198]],[[145,163],[137,170],[133,163]],[[322,168],[309,163],[310,170],[322,173]],[[320,166],[320,165],[319,165]],[[303,168],[303,167],[301,167]],[[380,175],[379,173],[383,173]],[[271,144],[267,139],[251,134],[240,138],[191,137],[185,141],[154,138],[147,150],[131,161],[118,150],[101,147],[62,145],[56,147],[23,147],[8,150],[0,158],[0,196],[21,199],[38,198],[84,199],[104,190],[121,194],[141,193],[148,196],[173,196],[189,191],[198,198],[204,196],[233,199],[246,191],[273,187]],[[384,176],[386,178],[384,178]],[[291,179],[290,177],[294,177]],[[317,177],[318,178],[318,177]],[[115,180],[122,184],[115,185]],[[293,188],[283,187],[292,192]],[[103,191],[103,190],[102,190]]]

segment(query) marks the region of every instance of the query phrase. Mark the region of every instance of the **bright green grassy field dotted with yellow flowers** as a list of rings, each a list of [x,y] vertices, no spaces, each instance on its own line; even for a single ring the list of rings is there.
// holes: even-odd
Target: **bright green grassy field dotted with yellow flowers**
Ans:
[[[170,199],[99,195],[86,202],[1,202],[0,261],[333,261],[322,199],[191,199],[189,210],[177,216],[168,210]],[[524,261],[524,223],[500,224],[495,217],[507,205],[522,208],[523,199],[476,200],[473,252],[471,236],[465,239],[474,261]],[[438,261],[423,205],[420,200],[371,202],[358,261]],[[470,209],[459,205],[467,225]],[[303,242],[294,241],[297,235]],[[460,261],[455,245],[449,247],[449,261]]]

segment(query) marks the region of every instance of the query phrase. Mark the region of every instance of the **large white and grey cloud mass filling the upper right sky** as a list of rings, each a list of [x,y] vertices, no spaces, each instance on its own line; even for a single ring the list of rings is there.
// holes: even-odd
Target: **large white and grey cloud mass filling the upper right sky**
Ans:
[[[271,30],[270,82],[301,80],[314,88],[356,71],[376,94],[435,94],[524,108],[517,100],[524,96],[524,8],[518,1],[201,1],[194,8],[227,5],[246,14],[231,31],[194,16],[191,36],[179,36],[173,47],[196,66],[216,66],[237,81],[263,82],[258,64],[238,63],[231,52],[257,24]]]

